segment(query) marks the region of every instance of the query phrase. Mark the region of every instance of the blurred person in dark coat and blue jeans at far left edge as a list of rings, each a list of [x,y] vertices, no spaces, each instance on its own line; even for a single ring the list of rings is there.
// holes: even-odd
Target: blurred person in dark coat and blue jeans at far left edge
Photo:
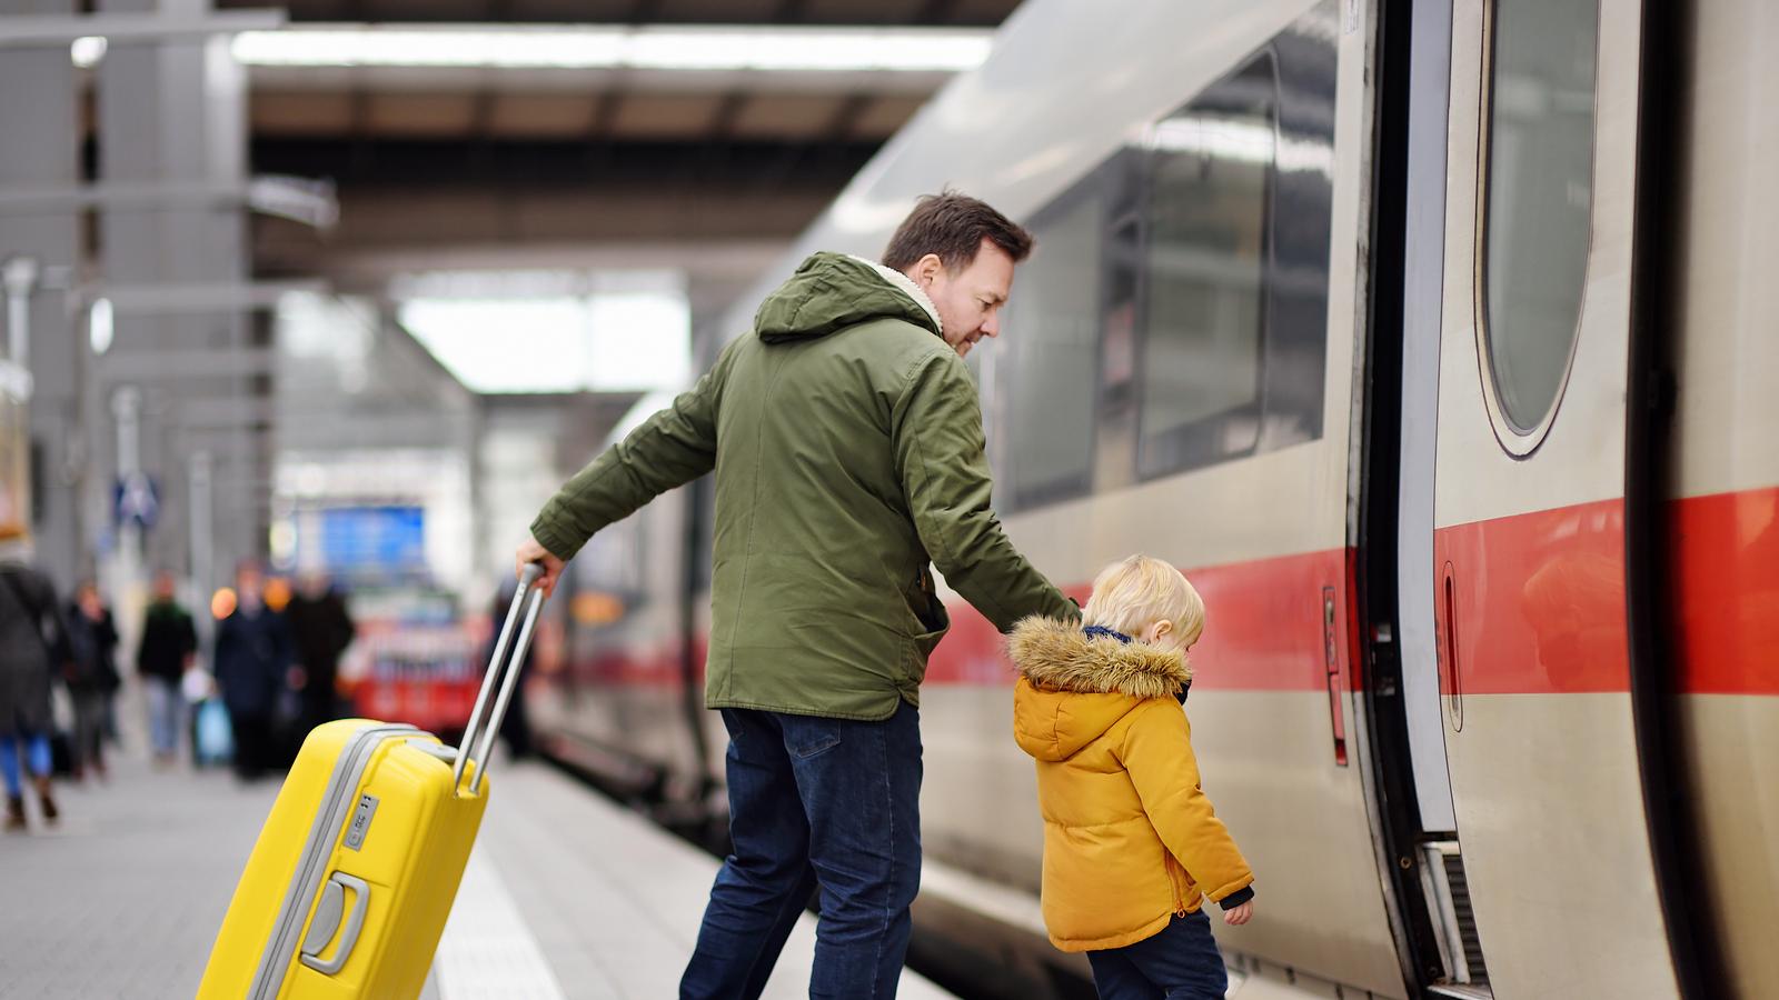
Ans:
[[[50,683],[68,664],[68,628],[55,585],[30,566],[0,564],[0,774],[5,778],[5,829],[25,829],[25,781],[18,747],[37,788],[43,819],[57,819],[50,795]]]

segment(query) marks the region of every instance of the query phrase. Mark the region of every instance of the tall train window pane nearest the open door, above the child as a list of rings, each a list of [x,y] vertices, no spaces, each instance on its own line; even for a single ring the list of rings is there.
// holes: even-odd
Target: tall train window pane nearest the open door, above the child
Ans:
[[[1277,107],[1267,52],[1144,135],[1144,477],[1260,443]]]

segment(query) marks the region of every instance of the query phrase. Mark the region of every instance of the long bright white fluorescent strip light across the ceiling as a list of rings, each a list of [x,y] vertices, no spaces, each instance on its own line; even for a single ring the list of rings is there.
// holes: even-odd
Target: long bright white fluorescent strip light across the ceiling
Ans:
[[[749,28],[304,25],[235,36],[247,66],[463,66],[503,69],[756,69],[955,73],[987,59],[975,28]]]

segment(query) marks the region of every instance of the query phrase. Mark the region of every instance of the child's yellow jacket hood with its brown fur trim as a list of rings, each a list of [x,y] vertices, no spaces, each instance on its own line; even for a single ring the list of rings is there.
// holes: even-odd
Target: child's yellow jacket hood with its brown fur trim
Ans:
[[[1048,762],[1075,756],[1144,701],[1172,698],[1192,680],[1178,651],[1087,635],[1050,617],[1014,626],[1007,653],[1021,674],[1014,738]]]

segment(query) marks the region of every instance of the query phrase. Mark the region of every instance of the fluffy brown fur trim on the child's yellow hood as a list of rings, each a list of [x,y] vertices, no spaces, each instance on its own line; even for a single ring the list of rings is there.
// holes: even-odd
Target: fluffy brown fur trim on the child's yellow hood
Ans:
[[[1007,653],[1028,681],[1050,690],[1172,698],[1192,681],[1187,658],[1176,649],[1142,641],[1126,646],[1039,616],[1014,626]]]

